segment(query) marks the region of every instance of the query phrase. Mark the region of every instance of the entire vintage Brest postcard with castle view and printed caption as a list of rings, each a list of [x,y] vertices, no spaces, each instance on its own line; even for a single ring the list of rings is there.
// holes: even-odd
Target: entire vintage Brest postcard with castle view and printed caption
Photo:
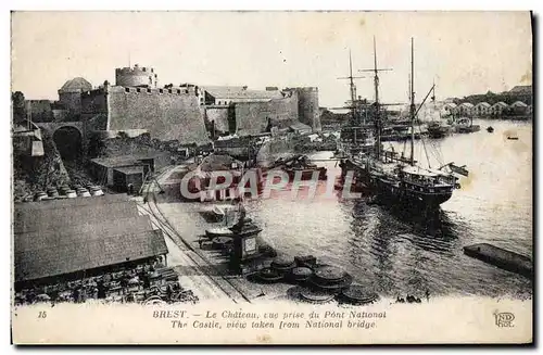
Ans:
[[[532,21],[13,12],[13,343],[532,343]]]

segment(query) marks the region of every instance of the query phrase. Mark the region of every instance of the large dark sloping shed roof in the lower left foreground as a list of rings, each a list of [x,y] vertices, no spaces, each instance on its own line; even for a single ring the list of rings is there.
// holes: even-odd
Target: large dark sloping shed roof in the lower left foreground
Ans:
[[[77,200],[81,203],[71,203]],[[162,232],[153,230],[148,216],[138,214],[135,202],[105,203],[102,198],[72,201],[15,205],[16,281],[167,253]]]

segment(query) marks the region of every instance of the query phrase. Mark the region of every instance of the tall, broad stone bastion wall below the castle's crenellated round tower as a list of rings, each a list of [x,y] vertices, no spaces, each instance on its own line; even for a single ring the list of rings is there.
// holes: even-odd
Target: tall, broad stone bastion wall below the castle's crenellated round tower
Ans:
[[[180,89],[110,87],[108,110],[108,129],[147,129],[152,138],[181,143],[207,141],[198,97]]]

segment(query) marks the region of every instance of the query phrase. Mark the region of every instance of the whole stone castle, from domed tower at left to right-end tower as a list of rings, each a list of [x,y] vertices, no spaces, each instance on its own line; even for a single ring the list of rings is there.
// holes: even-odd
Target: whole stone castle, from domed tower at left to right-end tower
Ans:
[[[320,131],[318,89],[159,86],[152,67],[115,69],[115,85],[66,81],[59,101],[28,100],[33,121],[81,121],[89,131],[147,130],[152,138],[205,143],[213,135],[257,135],[270,127],[306,125]],[[212,129],[210,129],[212,127]]]

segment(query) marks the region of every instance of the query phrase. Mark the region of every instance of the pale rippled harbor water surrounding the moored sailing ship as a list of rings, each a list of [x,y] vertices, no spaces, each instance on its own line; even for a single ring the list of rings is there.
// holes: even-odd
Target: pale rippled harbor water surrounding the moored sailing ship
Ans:
[[[481,130],[415,143],[421,164],[435,168],[439,159],[469,170],[462,189],[435,216],[371,204],[364,195],[292,198],[290,186],[268,199],[248,201],[248,213],[279,253],[313,254],[382,295],[422,297],[429,291],[529,297],[531,280],[470,258],[463,246],[487,242],[532,257],[532,125],[482,119],[473,124]],[[494,132],[488,132],[488,126]],[[384,143],[390,147],[404,150],[403,142]],[[409,142],[405,152],[409,154]],[[321,161],[331,156],[312,155],[328,168],[329,177],[340,174],[336,161]]]

